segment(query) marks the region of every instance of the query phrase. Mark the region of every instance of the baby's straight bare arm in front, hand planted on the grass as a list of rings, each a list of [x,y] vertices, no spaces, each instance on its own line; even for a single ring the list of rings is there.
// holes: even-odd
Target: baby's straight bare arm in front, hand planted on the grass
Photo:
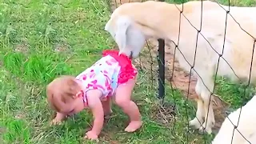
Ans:
[[[100,134],[102,131],[104,123],[104,111],[102,108],[102,102],[100,100],[101,95],[102,92],[100,90],[89,90],[86,94],[88,106],[94,115],[93,128],[86,133],[86,137],[89,139],[98,138],[98,134]]]

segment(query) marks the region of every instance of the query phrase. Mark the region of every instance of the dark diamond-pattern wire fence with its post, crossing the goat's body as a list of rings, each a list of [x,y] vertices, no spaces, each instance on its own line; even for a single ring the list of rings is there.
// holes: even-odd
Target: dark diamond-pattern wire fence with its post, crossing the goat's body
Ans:
[[[108,0],[109,3],[111,2],[111,0]],[[134,2],[133,0],[115,0],[114,1],[114,6],[115,7],[118,7],[120,5],[122,5],[123,3],[126,3],[126,2]],[[165,2],[165,1],[162,1],[162,0],[159,0],[160,2]],[[213,0],[214,2],[217,2],[216,0]],[[138,2],[138,1],[136,1]],[[140,2],[145,2],[143,0],[141,0]],[[183,18],[186,18],[186,15],[183,14],[183,0],[180,0],[180,2],[182,3],[182,10],[180,10],[177,7],[177,9],[179,10],[179,28],[178,28],[178,42],[175,43],[174,41],[172,41],[172,43],[174,44],[174,58],[173,58],[173,65],[172,65],[172,72],[170,74],[170,80],[174,83],[175,85],[175,82],[173,81],[173,78],[174,78],[174,59],[175,59],[175,56],[176,56],[176,53],[177,53],[177,50],[182,54],[182,51],[178,48],[179,46],[179,42],[180,42],[180,31],[181,31],[181,19],[182,17]],[[218,2],[217,2],[218,3]],[[220,5],[218,3],[218,6],[222,7],[222,5]],[[194,72],[196,74],[198,74],[197,70],[194,69],[194,65],[195,65],[195,58],[197,56],[197,49],[198,49],[198,36],[199,34],[202,36],[202,38],[204,38],[204,40],[206,40],[206,42],[210,45],[210,48],[212,50],[214,50],[217,54],[218,54],[218,63],[217,63],[217,70],[214,74],[214,90],[213,92],[210,92],[210,101],[209,101],[209,104],[208,104],[208,112],[207,112],[207,118],[206,118],[206,123],[207,123],[207,120],[208,120],[208,114],[209,114],[209,107],[210,107],[210,102],[211,102],[211,97],[212,95],[214,94],[215,92],[215,86],[216,86],[216,80],[217,80],[217,74],[218,74],[218,66],[219,66],[219,62],[220,62],[220,59],[222,58],[228,66],[230,66],[229,62],[226,61],[225,58],[222,57],[223,55],[223,52],[224,52],[224,46],[226,44],[226,29],[227,29],[227,19],[228,19],[228,16],[230,16],[230,18],[232,18],[234,20],[234,22],[236,22],[238,24],[238,26],[241,28],[242,31],[244,31],[246,34],[248,34],[251,38],[254,39],[254,44],[252,46],[252,55],[251,55],[251,62],[250,62],[250,74],[249,74],[249,80],[246,84],[246,87],[244,88],[244,91],[243,91],[243,98],[246,96],[246,89],[250,86],[250,78],[251,78],[251,72],[252,72],[252,66],[253,66],[253,61],[254,61],[254,48],[255,48],[255,43],[256,43],[256,38],[254,38],[253,35],[249,34],[246,30],[244,30],[242,28],[242,26],[239,24],[239,22],[233,17],[232,14],[230,14],[230,0],[228,0],[228,10],[226,10],[224,7],[222,7],[223,10],[226,11],[226,21],[225,21],[225,29],[224,29],[224,38],[223,38],[223,45],[222,45],[222,52],[221,53],[218,53],[217,50],[214,49],[214,47],[211,45],[211,43],[207,40],[207,38],[201,33],[201,30],[202,30],[202,14],[203,14],[203,0],[201,0],[201,18],[200,18],[200,26],[199,26],[199,29],[196,28],[196,26],[194,26],[190,20],[188,18],[186,18],[186,21],[190,23],[190,26],[194,27],[195,30],[197,30],[197,36],[196,36],[196,45],[195,45],[195,50],[194,50],[194,62],[193,64],[191,65],[190,62],[186,59],[185,55],[182,54],[182,57],[186,60],[187,64],[190,65],[190,75],[189,75],[189,83],[188,83],[188,88],[187,88],[187,95],[186,95],[186,103],[188,102],[188,99],[189,99],[189,94],[190,94],[190,83],[191,83],[191,76],[192,76],[192,70],[194,70]],[[150,54],[150,59],[151,59],[151,62],[150,62],[150,70],[151,70],[151,79],[152,79],[152,85],[153,85],[153,56],[151,54],[151,48],[149,46],[149,43],[146,42],[146,45],[148,47],[148,50],[149,50],[149,54]],[[141,59],[141,58],[140,58]],[[158,56],[157,56],[157,59],[158,59],[158,98],[164,100],[165,98],[165,41],[163,39],[158,39]],[[140,61],[141,62],[141,61]],[[230,66],[230,69],[233,71],[234,75],[238,78],[238,74],[235,74],[233,68]],[[202,80],[202,84],[204,86],[206,86],[205,82],[203,82],[203,79],[202,77],[198,74],[198,78],[200,78]],[[240,82],[242,82],[240,80],[240,78],[238,78]],[[174,86],[173,85],[170,85],[170,88],[172,90],[172,95],[174,95]],[[210,89],[206,86],[206,88],[210,91]],[[174,110],[176,110],[176,106],[177,106],[177,103],[176,101],[174,100]],[[188,108],[187,108],[187,105],[186,106],[186,120],[187,120],[187,131],[186,131],[186,142],[189,143],[190,140],[189,140],[189,118],[188,118]],[[239,118],[238,118],[238,123],[239,123],[239,120],[240,120],[240,115],[242,113],[242,106],[240,106],[240,111],[239,111]],[[230,118],[229,117],[226,117],[229,119],[229,121],[231,122]],[[176,122],[176,113],[174,113],[174,126],[172,127],[172,131],[174,132],[175,130],[175,122]],[[199,121],[198,121],[199,122]],[[243,134],[238,130],[238,123],[237,124],[234,124],[233,122],[231,122],[232,125],[234,126],[234,130],[233,130],[233,135],[232,135],[232,139],[230,140],[230,143],[233,143],[233,138],[234,138],[234,131],[237,130],[239,134],[241,134],[241,136],[243,138],[245,138],[243,136]],[[202,126],[202,123],[201,123],[201,126]],[[203,134],[203,138],[204,138],[204,142],[206,143],[206,134]],[[245,140],[247,142],[249,142],[246,138]],[[251,143],[251,142],[249,142]]]

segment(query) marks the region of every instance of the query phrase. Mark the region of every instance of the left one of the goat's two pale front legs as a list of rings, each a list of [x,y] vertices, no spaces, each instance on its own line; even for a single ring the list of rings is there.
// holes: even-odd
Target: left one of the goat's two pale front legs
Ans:
[[[190,126],[194,126],[196,129],[199,129],[202,126],[203,118],[205,117],[205,109],[203,105],[202,98],[200,97],[202,90],[202,81],[198,79],[197,85],[195,86],[195,92],[198,94],[198,109],[196,112],[196,117],[190,121]]]

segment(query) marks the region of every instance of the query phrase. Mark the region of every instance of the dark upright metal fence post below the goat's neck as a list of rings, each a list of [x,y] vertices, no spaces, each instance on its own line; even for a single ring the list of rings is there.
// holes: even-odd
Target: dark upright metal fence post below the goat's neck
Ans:
[[[165,40],[158,39],[158,98],[165,97]]]

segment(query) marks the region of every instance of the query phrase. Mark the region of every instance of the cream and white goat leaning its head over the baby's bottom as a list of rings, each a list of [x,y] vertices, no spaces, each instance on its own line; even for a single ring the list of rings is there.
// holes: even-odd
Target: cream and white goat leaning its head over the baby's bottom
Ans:
[[[217,67],[219,76],[227,76],[234,81],[239,78],[248,82],[256,38],[256,8],[230,6],[230,14],[251,36],[241,29],[230,14],[227,14],[226,22],[228,6],[219,6],[218,3],[210,1],[192,1],[184,3],[183,8],[180,19],[182,5],[154,1],[126,3],[114,10],[106,23],[105,30],[110,32],[117,42],[120,52],[130,54],[133,58],[138,57],[147,38],[163,38],[172,41],[172,46],[175,46],[173,43],[178,45],[176,50],[178,62],[187,71],[190,71],[190,67],[194,64],[192,73],[198,78],[195,86],[198,94],[198,109],[196,118],[190,121],[190,126],[195,126],[201,131],[205,128],[210,134],[215,122],[210,94],[214,92],[214,74]],[[201,8],[202,29],[200,29]],[[225,45],[222,54],[223,43]],[[218,66],[220,55],[222,58]],[[256,80],[255,66],[254,61],[251,82]]]

